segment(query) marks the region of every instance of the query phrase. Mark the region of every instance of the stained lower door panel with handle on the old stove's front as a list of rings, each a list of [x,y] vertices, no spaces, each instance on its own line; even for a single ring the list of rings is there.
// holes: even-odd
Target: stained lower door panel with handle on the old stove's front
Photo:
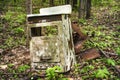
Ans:
[[[60,62],[60,40],[54,37],[33,37],[31,40],[31,56],[33,62]]]

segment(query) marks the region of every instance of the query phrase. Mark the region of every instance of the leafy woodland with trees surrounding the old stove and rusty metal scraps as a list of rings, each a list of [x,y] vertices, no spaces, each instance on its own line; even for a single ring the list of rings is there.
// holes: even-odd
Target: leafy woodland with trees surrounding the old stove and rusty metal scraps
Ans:
[[[91,1],[88,2],[91,7],[86,7],[87,1]],[[41,79],[40,76],[33,76],[36,73],[30,69],[29,46],[26,44],[26,15],[39,13],[39,9],[43,7],[64,4],[72,5],[71,20],[78,20],[82,32],[95,43],[93,45],[86,41],[81,52],[99,46],[104,51],[116,55],[110,56],[110,59],[101,56],[90,61],[81,61],[78,58],[75,68],[63,76],[76,80],[120,80],[120,75],[111,66],[116,65],[120,69],[119,0],[0,0],[1,80]],[[83,65],[84,67],[81,67]],[[49,77],[45,79],[50,80]]]

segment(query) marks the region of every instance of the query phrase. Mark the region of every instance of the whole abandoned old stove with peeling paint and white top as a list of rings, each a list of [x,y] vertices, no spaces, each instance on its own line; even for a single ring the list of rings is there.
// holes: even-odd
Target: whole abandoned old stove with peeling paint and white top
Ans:
[[[67,72],[76,63],[70,14],[71,5],[63,5],[27,15],[33,69],[60,66]]]

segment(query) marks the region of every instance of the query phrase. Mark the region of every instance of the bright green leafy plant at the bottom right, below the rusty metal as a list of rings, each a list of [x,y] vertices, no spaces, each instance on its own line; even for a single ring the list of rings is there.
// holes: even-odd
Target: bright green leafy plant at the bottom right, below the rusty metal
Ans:
[[[95,78],[100,78],[100,79],[108,78],[108,75],[110,75],[106,67],[104,67],[103,69],[98,69],[94,71],[93,74]]]

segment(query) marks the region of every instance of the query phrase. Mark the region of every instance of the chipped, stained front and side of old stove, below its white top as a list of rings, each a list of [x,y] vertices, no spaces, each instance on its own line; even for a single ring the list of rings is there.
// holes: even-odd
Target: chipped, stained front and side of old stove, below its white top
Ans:
[[[46,70],[48,67],[60,66],[62,72],[66,72],[76,63],[71,21],[67,14],[59,15],[61,17],[59,20],[56,17],[57,21],[50,21],[53,17],[55,16],[49,16],[49,22],[46,20],[37,23],[29,23],[29,21],[34,20],[33,17],[32,20],[29,18],[31,65],[36,70]],[[37,19],[36,16],[35,19]],[[47,35],[42,34],[46,34],[47,30],[43,30],[43,28],[48,26],[51,30],[56,31],[51,32],[52,36],[48,36],[50,33],[47,33]],[[32,36],[31,34],[35,31],[31,31],[31,28],[40,30],[38,31],[40,35]]]

